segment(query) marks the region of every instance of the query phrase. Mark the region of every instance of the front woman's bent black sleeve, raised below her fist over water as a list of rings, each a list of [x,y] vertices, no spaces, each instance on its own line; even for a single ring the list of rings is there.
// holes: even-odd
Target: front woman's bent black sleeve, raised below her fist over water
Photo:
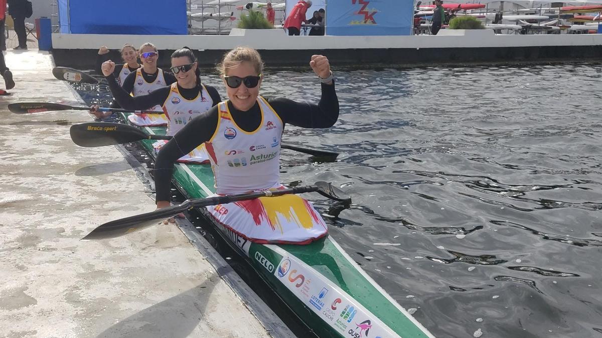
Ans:
[[[322,95],[320,102],[294,102],[279,97],[270,99],[268,103],[280,116],[284,123],[303,128],[329,128],[338,120],[339,105],[334,82],[331,85],[321,84]]]

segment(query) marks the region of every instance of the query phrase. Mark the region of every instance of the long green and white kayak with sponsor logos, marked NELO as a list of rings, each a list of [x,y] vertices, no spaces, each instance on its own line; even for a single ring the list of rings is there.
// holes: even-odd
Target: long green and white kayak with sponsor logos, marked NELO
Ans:
[[[166,132],[161,127],[142,129],[155,135]],[[151,155],[154,142],[141,141]],[[187,198],[214,192],[209,165],[176,164],[173,180]],[[433,337],[330,236],[308,245],[256,244],[213,221],[204,208],[200,211],[318,336]]]

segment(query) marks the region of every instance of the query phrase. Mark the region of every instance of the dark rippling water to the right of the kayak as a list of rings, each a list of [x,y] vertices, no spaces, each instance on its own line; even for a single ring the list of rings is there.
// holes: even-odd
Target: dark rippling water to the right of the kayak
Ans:
[[[282,181],[330,235],[438,337],[602,337],[600,64],[337,72],[334,128],[287,126]],[[225,93],[217,77],[205,77]],[[80,88],[80,93],[82,88]],[[83,88],[106,102],[106,87]],[[311,73],[271,72],[262,94],[317,101]]]

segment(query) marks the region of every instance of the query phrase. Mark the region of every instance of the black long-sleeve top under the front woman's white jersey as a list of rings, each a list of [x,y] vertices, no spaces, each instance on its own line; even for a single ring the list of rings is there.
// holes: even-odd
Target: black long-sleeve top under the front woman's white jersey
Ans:
[[[329,128],[337,122],[339,114],[338,97],[334,83],[322,84],[320,102],[316,105],[295,102],[283,97],[267,99],[284,124],[303,128]],[[228,100],[230,114],[236,124],[247,132],[255,131],[261,123],[259,103],[248,111],[240,111]],[[217,128],[219,109],[217,106],[186,124],[165,146],[161,148],[155,161],[155,189],[157,201],[170,200],[170,181],[173,164],[182,156],[191,152],[200,144],[209,141]]]

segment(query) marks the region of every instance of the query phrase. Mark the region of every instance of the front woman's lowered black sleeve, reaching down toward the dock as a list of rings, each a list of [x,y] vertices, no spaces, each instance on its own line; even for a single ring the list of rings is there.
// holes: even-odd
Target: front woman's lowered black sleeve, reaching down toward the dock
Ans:
[[[200,144],[209,141],[217,128],[219,117],[217,106],[202,115],[193,118],[181,131],[173,135],[165,146],[161,147],[155,161],[155,192],[157,201],[170,200],[170,182],[172,180],[173,164],[179,158],[190,153]]]

